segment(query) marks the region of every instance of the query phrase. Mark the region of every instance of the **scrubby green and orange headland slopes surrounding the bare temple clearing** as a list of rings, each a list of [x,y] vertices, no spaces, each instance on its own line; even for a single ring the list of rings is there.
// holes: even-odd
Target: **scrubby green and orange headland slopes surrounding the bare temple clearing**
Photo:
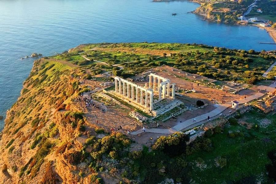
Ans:
[[[83,80],[112,81],[99,75],[108,71],[128,78],[169,65],[254,84],[274,62],[274,55],[254,50],[158,43],[84,44],[38,59],[7,112],[0,183],[273,183],[275,114],[252,109],[189,145],[189,137],[178,132],[136,150],[138,143],[127,135],[89,123],[78,98],[89,90]],[[263,119],[270,124],[261,127]]]

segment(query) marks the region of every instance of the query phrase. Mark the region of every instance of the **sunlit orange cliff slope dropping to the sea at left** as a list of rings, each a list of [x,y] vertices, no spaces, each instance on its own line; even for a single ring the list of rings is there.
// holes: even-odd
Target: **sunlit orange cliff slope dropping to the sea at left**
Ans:
[[[81,149],[75,144],[76,129],[63,118],[79,90],[72,76],[76,70],[50,59],[35,61],[21,96],[7,113],[0,140],[0,183],[83,183],[85,178],[79,180],[77,168],[63,158]]]

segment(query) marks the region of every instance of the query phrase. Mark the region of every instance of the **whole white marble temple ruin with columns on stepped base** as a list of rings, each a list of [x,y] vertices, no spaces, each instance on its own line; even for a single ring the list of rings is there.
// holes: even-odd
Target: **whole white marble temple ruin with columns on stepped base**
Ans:
[[[153,116],[163,114],[182,103],[175,99],[175,84],[171,84],[170,79],[153,73],[148,76],[149,82],[144,86],[115,77],[113,94]],[[158,99],[154,99],[155,96],[158,96]],[[162,103],[159,103],[161,101]]]

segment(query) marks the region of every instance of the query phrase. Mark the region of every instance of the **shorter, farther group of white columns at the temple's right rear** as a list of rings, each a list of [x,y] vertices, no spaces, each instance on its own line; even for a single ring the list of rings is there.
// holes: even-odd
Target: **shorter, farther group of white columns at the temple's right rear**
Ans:
[[[152,78],[153,78],[153,87],[151,88],[152,86]],[[157,83],[157,86],[156,86],[156,79],[158,79],[158,83]],[[170,90],[172,86],[172,90]],[[153,89],[154,91],[157,91],[158,92],[158,95],[159,95],[159,100],[162,100],[164,98],[167,97],[171,97],[171,98],[175,98],[174,95],[175,95],[175,84],[171,84],[170,83],[170,80],[169,79],[165,79],[163,77],[160,77],[158,75],[155,75],[155,74],[150,74],[149,75],[149,88]],[[171,93],[171,96],[170,96],[170,91],[172,92]]]

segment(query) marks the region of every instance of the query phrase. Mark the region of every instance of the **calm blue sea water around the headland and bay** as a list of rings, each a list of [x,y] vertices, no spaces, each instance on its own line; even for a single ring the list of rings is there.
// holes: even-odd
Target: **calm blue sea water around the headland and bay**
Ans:
[[[0,115],[17,100],[33,59],[32,52],[54,55],[83,43],[197,43],[237,49],[272,50],[264,29],[201,20],[199,4],[151,0],[1,0]],[[172,16],[171,13],[178,13]],[[0,120],[0,131],[4,121]]]

